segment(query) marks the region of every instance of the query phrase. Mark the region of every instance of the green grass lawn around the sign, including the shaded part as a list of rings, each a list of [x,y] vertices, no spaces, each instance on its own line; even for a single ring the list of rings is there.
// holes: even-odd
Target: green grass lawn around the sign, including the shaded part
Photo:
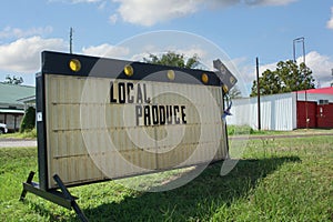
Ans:
[[[333,221],[333,137],[249,141],[225,176],[210,165],[186,185],[139,192],[115,182],[70,189],[90,221]],[[0,221],[78,221],[75,213],[28,193],[36,148],[0,149]]]

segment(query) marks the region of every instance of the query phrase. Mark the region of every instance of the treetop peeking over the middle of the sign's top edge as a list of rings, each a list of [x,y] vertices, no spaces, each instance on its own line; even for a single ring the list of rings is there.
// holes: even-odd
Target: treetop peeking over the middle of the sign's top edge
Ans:
[[[163,64],[170,67],[188,68],[194,69],[199,65],[199,57],[194,54],[193,57],[185,59],[184,54],[178,54],[175,52],[169,51],[161,57],[155,54],[149,54],[149,58],[143,58],[144,62],[152,64]]]

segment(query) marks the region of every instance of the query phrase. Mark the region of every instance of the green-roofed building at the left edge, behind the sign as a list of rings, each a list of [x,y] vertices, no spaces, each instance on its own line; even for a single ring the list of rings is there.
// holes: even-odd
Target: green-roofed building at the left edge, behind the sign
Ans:
[[[0,123],[6,123],[10,132],[20,129],[24,108],[27,109],[27,105],[34,107],[33,100],[24,103],[24,98],[34,98],[34,87],[0,82]]]

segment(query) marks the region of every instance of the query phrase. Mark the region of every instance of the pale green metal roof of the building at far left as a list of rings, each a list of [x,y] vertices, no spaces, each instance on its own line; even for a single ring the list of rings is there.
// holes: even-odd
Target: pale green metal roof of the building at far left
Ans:
[[[23,104],[23,102],[20,102],[18,100],[27,97],[33,97],[34,94],[34,87],[0,82],[0,104]]]

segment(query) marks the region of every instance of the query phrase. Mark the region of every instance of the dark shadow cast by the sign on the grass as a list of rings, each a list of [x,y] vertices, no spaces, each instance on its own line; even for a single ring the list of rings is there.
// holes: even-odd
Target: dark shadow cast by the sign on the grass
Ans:
[[[83,209],[90,221],[198,221],[208,220],[221,206],[246,198],[256,182],[299,157],[240,160],[225,176],[221,162],[210,165],[195,180],[167,192],[145,192],[114,203]],[[82,200],[83,201],[83,200]],[[72,218],[72,221],[78,219]]]

